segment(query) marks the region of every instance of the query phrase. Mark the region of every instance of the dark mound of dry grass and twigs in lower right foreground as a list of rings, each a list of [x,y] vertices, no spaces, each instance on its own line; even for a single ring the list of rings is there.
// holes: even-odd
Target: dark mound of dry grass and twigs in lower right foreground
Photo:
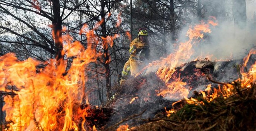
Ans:
[[[241,86],[240,81],[232,82],[233,95],[225,98],[218,92],[213,101],[208,102],[200,94],[195,97],[200,102],[183,104],[169,117],[145,120],[147,123],[131,128],[133,131],[151,130],[247,130],[256,129],[256,85],[251,88]],[[185,101],[185,100],[184,100]]]

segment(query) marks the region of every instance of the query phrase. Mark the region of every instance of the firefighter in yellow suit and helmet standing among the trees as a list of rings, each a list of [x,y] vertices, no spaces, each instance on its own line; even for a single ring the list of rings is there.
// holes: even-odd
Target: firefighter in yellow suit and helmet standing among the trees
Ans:
[[[120,84],[129,76],[135,76],[143,67],[144,60],[150,58],[148,33],[145,28],[138,30],[138,37],[130,44],[130,58],[123,68]]]

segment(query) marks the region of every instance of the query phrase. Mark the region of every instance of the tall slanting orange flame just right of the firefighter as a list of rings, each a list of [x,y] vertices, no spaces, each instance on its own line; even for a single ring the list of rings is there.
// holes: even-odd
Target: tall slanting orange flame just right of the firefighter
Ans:
[[[214,17],[212,18],[214,19]],[[161,58],[161,60],[150,63],[136,76],[140,75],[145,69],[158,65],[159,69],[156,71],[156,75],[166,83],[167,89],[161,90],[157,95],[163,95],[163,97],[170,99],[182,99],[183,97],[187,97],[189,90],[184,87],[186,83],[182,82],[180,78],[173,78],[173,73],[176,71],[176,66],[184,64],[190,59],[191,55],[194,53],[192,49],[193,45],[203,38],[204,33],[211,33],[211,29],[209,29],[210,25],[217,25],[217,23],[209,20],[207,24],[201,22],[201,24],[195,25],[194,27],[190,26],[186,35],[189,37],[188,41],[180,42],[180,44],[177,45],[178,49],[176,49],[174,53],[168,55],[166,58]],[[170,82],[171,79],[173,80]]]

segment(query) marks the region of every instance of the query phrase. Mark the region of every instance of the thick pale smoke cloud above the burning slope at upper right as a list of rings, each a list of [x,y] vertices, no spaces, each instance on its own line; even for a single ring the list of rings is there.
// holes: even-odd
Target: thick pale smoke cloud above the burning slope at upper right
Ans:
[[[237,3],[240,3],[240,1],[204,0],[202,2],[203,21],[207,23],[207,18],[214,16],[218,25],[216,27],[211,26],[212,32],[204,34],[204,38],[194,45],[194,54],[190,60],[199,56],[203,59],[207,57],[211,61],[216,59],[242,59],[252,47],[255,47],[256,0],[247,0],[246,10],[242,9],[242,5]],[[247,17],[241,14],[247,14]],[[195,24],[200,24],[198,20],[192,21],[193,23],[189,24],[192,27]],[[179,42],[187,41],[185,34],[188,29],[189,27],[182,29],[178,38]],[[171,46],[173,45],[171,44]]]

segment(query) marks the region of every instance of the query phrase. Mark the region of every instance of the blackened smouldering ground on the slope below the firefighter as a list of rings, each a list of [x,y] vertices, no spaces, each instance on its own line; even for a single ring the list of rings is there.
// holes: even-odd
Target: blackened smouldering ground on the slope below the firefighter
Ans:
[[[232,82],[239,78],[241,63],[242,60],[192,61],[177,67],[173,78],[180,76],[181,81],[187,83],[185,87],[189,89],[189,97],[193,97],[197,94],[196,92],[206,89],[208,84],[211,84],[212,88],[218,87],[218,84],[212,81]],[[248,64],[253,64],[253,62]],[[169,82],[171,81],[173,79],[170,79]],[[112,116],[106,125],[98,128],[112,130],[119,124],[125,123],[137,126],[143,124],[145,119],[166,116],[164,107],[167,110],[173,107],[175,109],[182,107],[184,101],[172,106],[173,102],[177,101],[176,99],[165,99],[156,95],[157,91],[164,88],[166,88],[165,83],[156,76],[155,72],[130,78],[121,86],[115,85],[113,89],[117,94],[116,99],[105,105],[105,108],[112,109]],[[134,97],[138,98],[130,104]]]

